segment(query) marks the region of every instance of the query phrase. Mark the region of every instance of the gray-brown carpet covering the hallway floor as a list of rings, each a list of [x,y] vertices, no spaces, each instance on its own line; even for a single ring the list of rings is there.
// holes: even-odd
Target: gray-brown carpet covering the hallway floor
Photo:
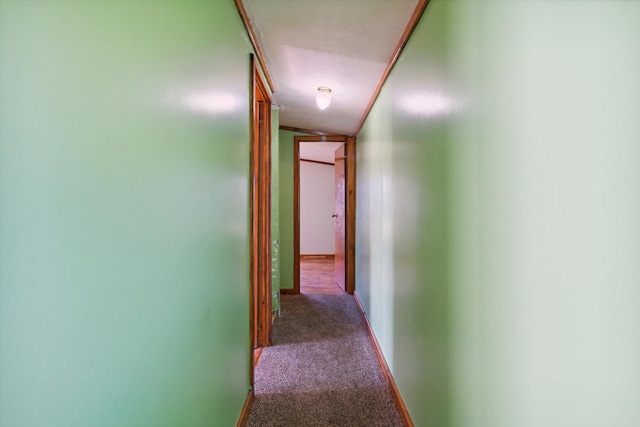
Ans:
[[[402,426],[353,296],[282,296],[246,425]]]

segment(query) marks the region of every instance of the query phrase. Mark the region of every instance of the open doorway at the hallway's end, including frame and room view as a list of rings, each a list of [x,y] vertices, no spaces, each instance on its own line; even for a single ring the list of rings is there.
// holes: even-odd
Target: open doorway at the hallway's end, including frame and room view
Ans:
[[[313,149],[303,147],[309,145]],[[305,277],[313,282],[311,289],[320,293],[353,294],[355,290],[354,167],[353,138],[342,135],[294,137],[293,293],[301,292],[301,279]],[[305,175],[307,181],[324,180],[324,187],[314,188],[317,182],[309,187],[308,182],[305,184]],[[303,191],[314,191],[314,197],[303,195]],[[301,202],[305,197],[322,200],[316,200],[315,206],[303,207]],[[306,221],[312,220],[312,227],[301,221],[303,209],[307,209]]]

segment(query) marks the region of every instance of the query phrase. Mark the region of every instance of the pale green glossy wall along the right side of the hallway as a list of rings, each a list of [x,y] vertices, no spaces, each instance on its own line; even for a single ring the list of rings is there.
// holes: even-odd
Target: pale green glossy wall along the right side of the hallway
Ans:
[[[432,0],[361,134],[357,293],[417,426],[640,425],[640,3]]]

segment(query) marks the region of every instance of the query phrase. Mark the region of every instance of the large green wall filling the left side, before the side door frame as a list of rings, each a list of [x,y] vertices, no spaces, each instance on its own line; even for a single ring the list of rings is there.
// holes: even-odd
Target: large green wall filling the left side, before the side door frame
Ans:
[[[0,425],[234,425],[249,53],[232,1],[0,1]]]

